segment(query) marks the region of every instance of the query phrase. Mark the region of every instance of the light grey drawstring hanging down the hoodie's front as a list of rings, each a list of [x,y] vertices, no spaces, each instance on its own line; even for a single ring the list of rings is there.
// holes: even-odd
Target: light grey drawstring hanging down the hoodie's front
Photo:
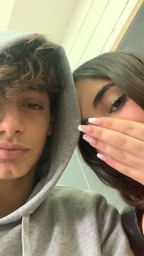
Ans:
[[[23,216],[21,236],[22,236],[23,256],[31,256],[30,244],[29,244],[29,214]]]

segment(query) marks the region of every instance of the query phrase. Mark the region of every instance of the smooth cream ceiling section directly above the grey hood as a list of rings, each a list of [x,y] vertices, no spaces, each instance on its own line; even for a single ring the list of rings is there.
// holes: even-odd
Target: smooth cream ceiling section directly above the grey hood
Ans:
[[[7,29],[39,32],[60,43],[79,0],[15,0]]]

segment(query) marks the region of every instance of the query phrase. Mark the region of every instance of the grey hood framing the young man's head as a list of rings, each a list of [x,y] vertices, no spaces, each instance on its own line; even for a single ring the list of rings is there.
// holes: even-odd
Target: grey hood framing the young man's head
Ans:
[[[0,53],[15,43],[27,40],[29,37],[32,37],[32,35],[37,34],[9,31],[0,32]],[[43,42],[49,42],[48,38],[42,38]],[[46,150],[43,152],[41,158],[45,159],[45,161],[43,161],[43,164],[40,166],[40,181],[35,186],[27,202],[22,207],[18,208],[18,210],[0,219],[0,225],[18,221],[23,218],[23,216],[29,216],[38,208],[43,200],[48,197],[49,192],[54,185],[56,185],[67,167],[77,144],[79,137],[77,126],[81,122],[81,118],[73,77],[65,51],[61,46],[55,46],[57,47],[54,57],[57,58],[59,78],[63,89],[57,100],[57,116],[54,120],[51,138],[51,154],[46,157],[48,152]],[[26,221],[27,220],[23,220],[23,222]]]

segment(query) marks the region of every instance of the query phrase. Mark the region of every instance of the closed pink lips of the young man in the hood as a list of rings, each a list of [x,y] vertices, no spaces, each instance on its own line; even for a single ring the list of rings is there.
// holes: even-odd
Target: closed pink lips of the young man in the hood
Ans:
[[[20,144],[0,143],[0,158],[15,159],[29,150]]]

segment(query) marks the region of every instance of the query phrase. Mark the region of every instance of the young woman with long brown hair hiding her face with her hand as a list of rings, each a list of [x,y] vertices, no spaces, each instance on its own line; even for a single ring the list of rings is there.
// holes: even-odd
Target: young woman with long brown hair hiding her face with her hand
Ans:
[[[135,207],[122,220],[135,254],[144,255],[144,56],[106,53],[77,68],[73,78],[82,157]]]

